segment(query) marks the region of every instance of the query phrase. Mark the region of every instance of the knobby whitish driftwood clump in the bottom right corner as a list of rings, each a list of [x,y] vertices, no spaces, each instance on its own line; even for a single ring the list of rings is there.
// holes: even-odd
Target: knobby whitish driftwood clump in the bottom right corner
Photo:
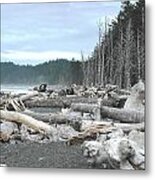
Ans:
[[[85,141],[82,150],[91,166],[108,169],[145,169],[144,151],[134,140],[124,137],[122,133],[103,142]]]

